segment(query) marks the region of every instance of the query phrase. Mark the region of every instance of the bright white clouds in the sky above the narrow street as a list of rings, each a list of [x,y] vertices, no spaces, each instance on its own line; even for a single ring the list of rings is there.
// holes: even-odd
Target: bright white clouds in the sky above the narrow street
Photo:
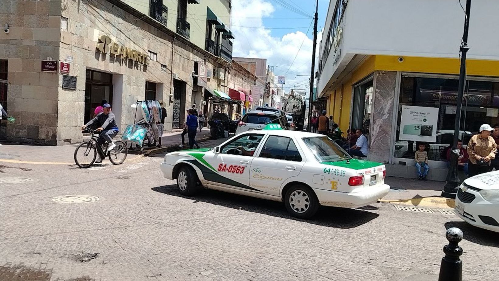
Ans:
[[[268,65],[277,65],[278,70],[276,69],[275,73],[278,75],[284,74],[292,63],[286,74],[286,86],[292,87],[298,83],[306,84],[307,82],[304,80],[307,77],[295,77],[295,74],[310,75],[313,40],[305,35],[306,29],[290,32],[282,37],[274,37],[271,34],[271,29],[240,27],[265,27],[261,18],[271,16],[274,10],[274,6],[265,0],[233,1],[231,23],[234,25],[232,31],[236,37],[233,56],[266,58]],[[295,24],[292,20],[289,20],[289,23],[291,26]],[[310,27],[308,36],[312,37],[312,32],[313,26]],[[320,37],[321,33],[319,32],[316,56],[318,56]],[[302,42],[303,45],[298,52]],[[298,54],[296,54],[297,52]],[[295,56],[296,59],[293,62]],[[315,64],[317,68],[317,59]],[[308,86],[300,86],[308,89]]]

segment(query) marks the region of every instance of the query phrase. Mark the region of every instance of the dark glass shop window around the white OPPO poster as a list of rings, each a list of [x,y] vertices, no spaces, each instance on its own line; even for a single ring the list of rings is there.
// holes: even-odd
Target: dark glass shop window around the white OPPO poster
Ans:
[[[414,159],[414,152],[419,143],[399,139],[402,106],[413,105],[439,109],[436,142],[425,143],[425,145],[429,160],[447,161],[443,152],[446,147],[452,144],[454,138],[458,79],[457,76],[455,78],[433,78],[402,75],[394,157]],[[465,147],[471,136],[477,133],[480,125],[488,123],[495,126],[499,123],[498,108],[499,83],[480,80],[467,81],[459,136]],[[398,162],[394,161],[395,164]]]

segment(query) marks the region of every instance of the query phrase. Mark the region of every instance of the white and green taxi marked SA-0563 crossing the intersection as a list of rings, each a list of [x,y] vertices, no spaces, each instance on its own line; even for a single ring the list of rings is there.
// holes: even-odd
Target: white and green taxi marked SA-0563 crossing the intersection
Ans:
[[[359,208],[384,197],[385,165],[352,159],[324,135],[268,125],[234,136],[213,149],[165,155],[165,178],[192,196],[201,186],[284,202],[298,218],[313,216],[320,205]]]

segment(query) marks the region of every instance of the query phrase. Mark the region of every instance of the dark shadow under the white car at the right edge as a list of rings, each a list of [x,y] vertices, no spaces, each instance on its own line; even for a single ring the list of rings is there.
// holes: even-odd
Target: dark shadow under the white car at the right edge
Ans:
[[[457,227],[463,231],[464,239],[475,244],[499,248],[499,233],[474,227],[466,222],[447,222],[445,228]],[[466,251],[466,249],[465,249]]]

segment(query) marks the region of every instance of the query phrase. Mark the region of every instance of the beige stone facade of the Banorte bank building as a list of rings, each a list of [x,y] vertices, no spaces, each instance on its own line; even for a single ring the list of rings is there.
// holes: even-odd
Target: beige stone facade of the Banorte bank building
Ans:
[[[223,90],[227,76],[219,73],[231,67],[232,61],[120,0],[0,5],[0,24],[10,28],[0,34],[0,62],[7,68],[6,100],[0,102],[16,118],[2,121],[0,138],[10,141],[79,142],[80,126],[104,98],[121,131],[133,123],[137,100],[162,100],[169,113],[165,131],[171,131],[182,126],[191,101],[201,103],[204,88]],[[43,60],[54,61],[49,64],[57,65],[56,72],[42,71]]]

